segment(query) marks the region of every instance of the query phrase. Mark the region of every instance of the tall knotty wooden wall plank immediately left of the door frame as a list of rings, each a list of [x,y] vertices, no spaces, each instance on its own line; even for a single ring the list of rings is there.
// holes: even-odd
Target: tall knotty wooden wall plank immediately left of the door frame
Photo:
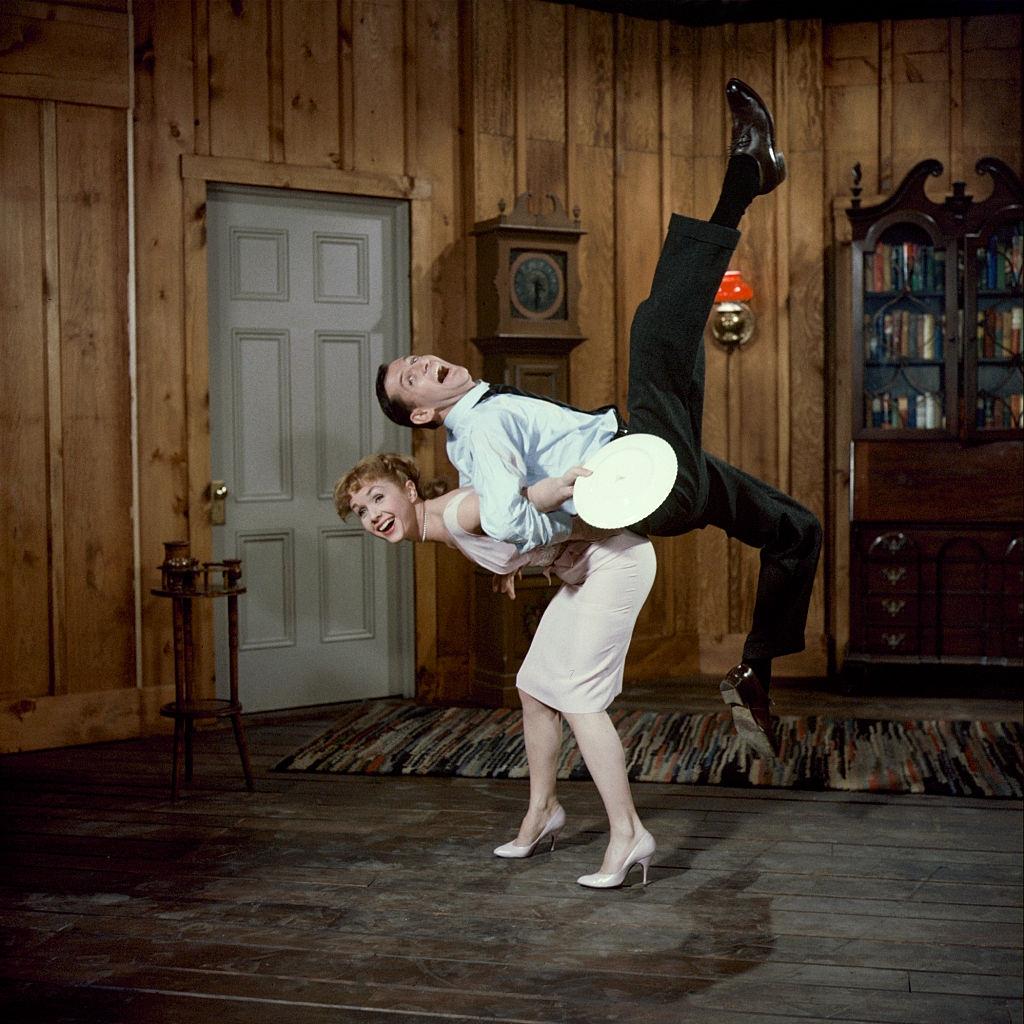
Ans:
[[[191,152],[191,22],[183,5],[138,2],[135,29],[135,301],[142,684],[174,682],[163,542],[188,536],[180,158]]]

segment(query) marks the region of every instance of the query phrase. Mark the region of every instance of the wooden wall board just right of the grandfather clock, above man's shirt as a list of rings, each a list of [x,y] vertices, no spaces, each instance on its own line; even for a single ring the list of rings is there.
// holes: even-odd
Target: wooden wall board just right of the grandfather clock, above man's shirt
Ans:
[[[570,8],[568,28],[568,209],[580,207],[580,330],[569,355],[573,403],[597,409],[615,400],[614,35],[610,14]]]

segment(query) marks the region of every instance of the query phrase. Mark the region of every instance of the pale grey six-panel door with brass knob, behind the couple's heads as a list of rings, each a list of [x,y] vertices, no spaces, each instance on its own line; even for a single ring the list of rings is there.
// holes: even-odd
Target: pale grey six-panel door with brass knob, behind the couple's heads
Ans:
[[[227,486],[214,555],[242,559],[242,703],[411,694],[411,552],[332,501],[361,456],[409,451],[374,397],[378,365],[410,347],[408,208],[211,186],[207,232],[213,478]]]

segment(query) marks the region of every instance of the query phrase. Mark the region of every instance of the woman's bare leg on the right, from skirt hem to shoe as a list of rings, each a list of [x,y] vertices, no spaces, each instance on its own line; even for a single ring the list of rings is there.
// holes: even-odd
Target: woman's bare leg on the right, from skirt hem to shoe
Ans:
[[[567,714],[565,720],[572,729],[608,815],[611,836],[600,870],[618,870],[643,829],[633,806],[622,740],[607,712]]]

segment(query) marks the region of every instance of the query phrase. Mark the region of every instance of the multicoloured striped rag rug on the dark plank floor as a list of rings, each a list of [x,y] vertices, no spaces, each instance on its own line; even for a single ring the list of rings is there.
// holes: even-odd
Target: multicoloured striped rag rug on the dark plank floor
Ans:
[[[609,713],[635,782],[1021,797],[1024,724],[780,717],[777,760],[735,734],[728,711]],[[338,723],[278,771],[525,778],[522,714],[395,700],[348,706]],[[587,779],[563,726],[562,779]]]

